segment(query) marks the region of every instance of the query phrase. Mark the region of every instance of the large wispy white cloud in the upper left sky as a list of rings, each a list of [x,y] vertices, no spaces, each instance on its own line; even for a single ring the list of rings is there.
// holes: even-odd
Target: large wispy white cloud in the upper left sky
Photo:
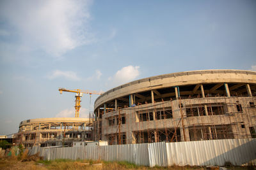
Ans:
[[[3,1],[0,16],[21,38],[20,44],[60,56],[94,41],[88,31],[90,4],[90,0]]]

